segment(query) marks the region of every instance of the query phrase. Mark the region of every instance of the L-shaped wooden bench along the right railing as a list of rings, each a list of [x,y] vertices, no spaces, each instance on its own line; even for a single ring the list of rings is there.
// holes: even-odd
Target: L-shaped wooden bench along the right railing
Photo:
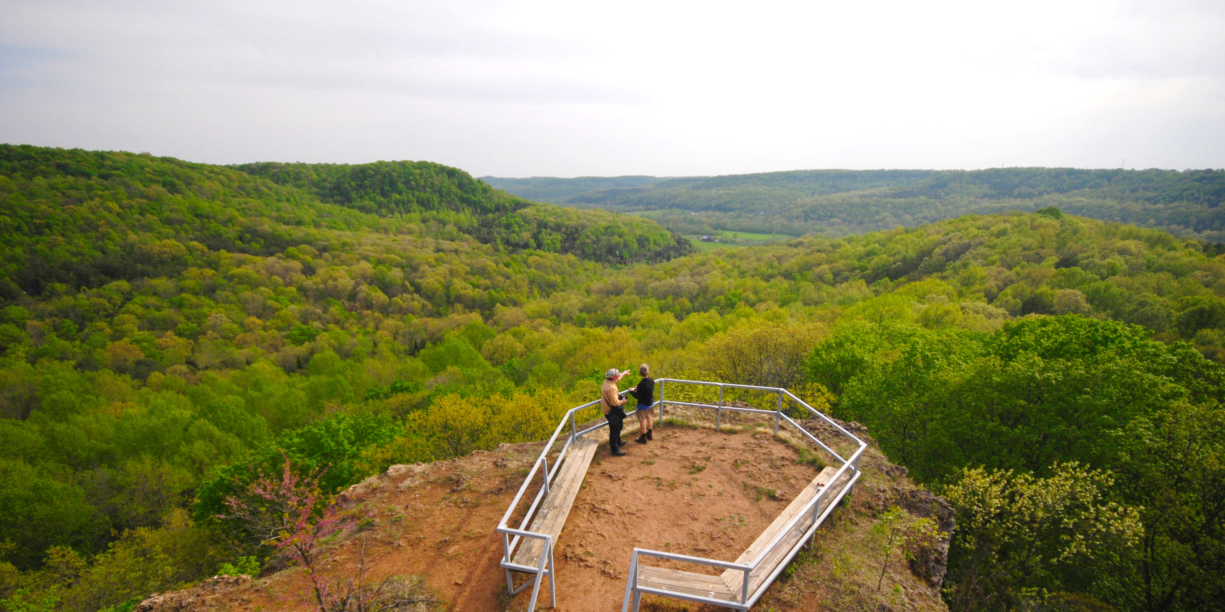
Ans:
[[[813,498],[821,492],[821,490],[829,486],[829,481],[838,474],[838,470],[833,468],[826,468],[821,470],[821,474],[812,482],[804,488],[795,499],[783,510],[782,514],[774,519],[773,523],[760,536],[757,540],[748,546],[747,550],[735,561],[736,563],[751,563],[753,558],[761,553],[766,546],[786,528],[786,524],[795,519],[795,515],[804,512],[804,507],[812,502]],[[839,479],[838,485],[845,483],[850,480],[849,472],[844,472],[843,477]],[[833,503],[834,494],[826,496],[821,499],[820,507],[817,508],[816,515],[821,515]],[[805,532],[812,528],[813,513],[810,510],[806,517],[799,520],[786,535],[774,545],[774,548],[762,559],[762,563],[755,569],[748,578],[748,592],[756,591],[761,585],[778,569],[783,559],[786,558],[791,548],[800,542]],[[650,565],[638,565],[638,586],[646,586],[649,589],[658,589],[662,591],[671,591],[686,595],[697,595],[701,597],[710,597],[714,600],[722,600],[730,603],[740,603],[744,597],[744,583],[745,573],[740,569],[729,569],[723,573],[723,575],[707,575],[698,574],[695,572],[680,572],[676,569],[664,569]],[[627,588],[628,589],[628,588]],[[626,602],[628,605],[628,601]],[[637,606],[637,603],[636,603]]]

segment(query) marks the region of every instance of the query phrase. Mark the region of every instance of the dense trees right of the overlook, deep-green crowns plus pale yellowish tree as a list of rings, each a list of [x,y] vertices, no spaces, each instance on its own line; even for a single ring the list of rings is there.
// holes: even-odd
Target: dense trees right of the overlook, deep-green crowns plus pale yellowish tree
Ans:
[[[1077,315],[995,332],[848,322],[810,368],[840,389],[835,415],[869,425],[954,503],[954,608],[1079,592],[1121,610],[1215,610],[1223,372],[1188,344]]]

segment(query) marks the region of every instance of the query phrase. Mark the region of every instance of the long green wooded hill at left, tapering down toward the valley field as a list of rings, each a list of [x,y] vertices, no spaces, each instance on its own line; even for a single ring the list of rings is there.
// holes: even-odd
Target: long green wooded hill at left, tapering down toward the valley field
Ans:
[[[245,168],[0,146],[0,291],[38,295],[49,284],[94,288],[178,273],[218,251],[327,250],[326,230],[467,235],[497,248],[609,263],[692,252],[649,220],[532,203],[439,164]]]

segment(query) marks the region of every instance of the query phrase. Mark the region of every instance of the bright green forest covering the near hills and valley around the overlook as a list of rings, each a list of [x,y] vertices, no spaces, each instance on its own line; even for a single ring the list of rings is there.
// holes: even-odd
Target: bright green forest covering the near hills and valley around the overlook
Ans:
[[[223,518],[261,472],[541,439],[649,362],[866,424],[957,507],[956,610],[1221,610],[1210,242],[1045,208],[626,264],[485,215],[671,234],[434,164],[0,153],[0,608],[279,567]]]

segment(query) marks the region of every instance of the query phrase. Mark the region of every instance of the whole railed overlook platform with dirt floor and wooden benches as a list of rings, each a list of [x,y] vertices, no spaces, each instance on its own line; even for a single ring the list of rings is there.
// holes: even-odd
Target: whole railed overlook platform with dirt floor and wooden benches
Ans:
[[[748,610],[859,480],[866,444],[785,389],[659,383],[665,421],[650,443],[609,455],[606,424],[579,431],[573,421],[588,404],[567,412],[533,464],[497,528],[507,590],[532,588],[528,610],[545,580],[551,606],[559,589],[562,601],[584,600],[564,610],[637,610],[643,594]],[[664,383],[718,399],[673,400]],[[725,403],[728,389],[757,401]],[[775,397],[774,410],[755,408],[762,394]],[[845,439],[823,442],[790,414],[822,419],[827,437]],[[516,573],[528,580],[516,586]]]

